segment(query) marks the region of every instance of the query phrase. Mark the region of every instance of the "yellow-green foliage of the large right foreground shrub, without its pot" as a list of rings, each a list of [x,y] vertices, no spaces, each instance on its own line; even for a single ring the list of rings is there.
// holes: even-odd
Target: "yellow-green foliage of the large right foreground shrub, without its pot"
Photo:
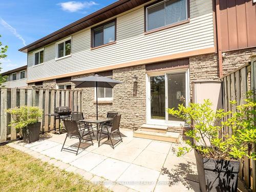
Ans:
[[[168,109],[168,113],[183,119],[193,130],[185,132],[186,136],[197,141],[197,145],[186,140],[190,147],[179,147],[178,156],[188,153],[193,148],[203,157],[214,159],[239,159],[246,155],[256,159],[256,154],[248,155],[248,144],[256,142],[255,107],[256,101],[252,92],[248,92],[245,104],[236,106],[236,112],[225,112],[223,109],[213,111],[212,103],[207,99],[204,103],[183,104]],[[230,101],[236,105],[236,101]],[[224,129],[227,128],[227,129]],[[224,130],[230,130],[224,131]],[[222,132],[220,138],[219,133]]]

